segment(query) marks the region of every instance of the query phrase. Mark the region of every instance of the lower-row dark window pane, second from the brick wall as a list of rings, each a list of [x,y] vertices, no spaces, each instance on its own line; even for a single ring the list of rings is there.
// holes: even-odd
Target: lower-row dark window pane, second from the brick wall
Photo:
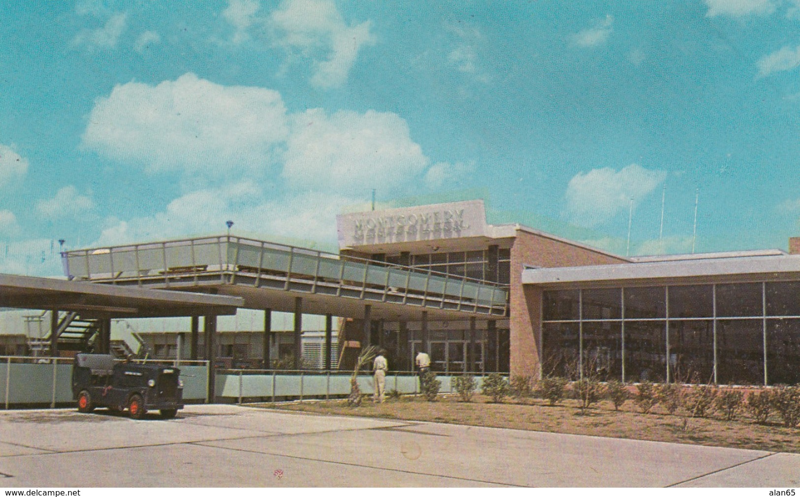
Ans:
[[[619,290],[617,290],[619,291]],[[601,381],[622,379],[622,324],[583,324],[583,372]]]

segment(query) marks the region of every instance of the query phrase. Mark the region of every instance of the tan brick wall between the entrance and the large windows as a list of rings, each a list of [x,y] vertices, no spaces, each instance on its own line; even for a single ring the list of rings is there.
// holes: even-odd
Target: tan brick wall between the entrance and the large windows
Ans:
[[[522,264],[557,268],[624,262],[621,257],[517,230],[517,237],[511,246],[511,374],[539,375],[542,291],[534,287],[523,288]]]

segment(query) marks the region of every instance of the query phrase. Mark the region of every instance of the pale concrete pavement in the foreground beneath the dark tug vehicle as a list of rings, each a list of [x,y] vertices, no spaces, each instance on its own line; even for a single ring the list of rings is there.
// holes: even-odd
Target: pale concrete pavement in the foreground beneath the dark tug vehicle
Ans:
[[[800,455],[231,405],[0,412],[0,487],[486,485],[798,487]]]

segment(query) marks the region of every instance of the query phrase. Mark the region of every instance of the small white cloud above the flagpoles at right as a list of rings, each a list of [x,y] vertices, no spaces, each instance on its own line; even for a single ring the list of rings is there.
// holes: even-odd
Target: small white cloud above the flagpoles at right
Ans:
[[[637,164],[619,171],[611,168],[578,173],[566,188],[567,209],[574,221],[598,225],[627,209],[630,199],[637,205],[664,179],[666,172]]]

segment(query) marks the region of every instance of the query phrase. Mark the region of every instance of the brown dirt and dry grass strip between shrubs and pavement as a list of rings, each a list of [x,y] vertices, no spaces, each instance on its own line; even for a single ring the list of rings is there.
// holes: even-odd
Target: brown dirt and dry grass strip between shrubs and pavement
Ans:
[[[736,420],[726,421],[719,417],[669,415],[660,411],[660,406],[654,408],[650,414],[642,414],[636,411],[635,404],[630,400],[618,412],[614,411],[614,405],[609,401],[602,401],[584,414],[578,408],[576,400],[564,400],[562,404],[550,406],[544,400],[506,398],[503,404],[494,404],[489,397],[481,395],[474,396],[469,403],[462,402],[458,396],[438,396],[436,402],[427,402],[422,396],[406,396],[399,400],[387,399],[383,404],[373,404],[369,398],[365,398],[358,408],[349,408],[346,400],[255,405],[318,414],[458,423],[800,453],[800,428],[783,427],[776,417],[762,425],[754,423],[744,413]]]

